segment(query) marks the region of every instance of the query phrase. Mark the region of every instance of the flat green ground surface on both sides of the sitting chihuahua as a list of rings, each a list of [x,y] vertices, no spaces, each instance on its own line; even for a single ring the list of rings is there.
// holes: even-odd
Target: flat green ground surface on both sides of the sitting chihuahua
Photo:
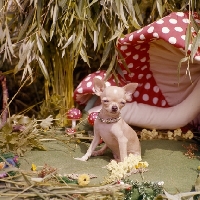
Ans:
[[[145,181],[164,181],[164,188],[171,194],[189,192],[197,177],[197,167],[200,161],[197,158],[189,159],[183,144],[189,145],[193,141],[148,140],[141,141],[142,159],[149,163],[148,172],[144,173]],[[47,151],[33,150],[20,158],[21,169],[30,170],[31,164],[43,166],[48,164],[56,167],[60,174],[90,173],[97,176],[91,180],[90,185],[99,185],[108,171],[104,168],[112,154],[107,152],[104,156],[91,157],[87,162],[75,160],[87,150],[86,143],[64,144],[58,141],[44,142]],[[196,155],[199,153],[197,152]],[[132,174],[129,179],[142,181],[140,174]]]

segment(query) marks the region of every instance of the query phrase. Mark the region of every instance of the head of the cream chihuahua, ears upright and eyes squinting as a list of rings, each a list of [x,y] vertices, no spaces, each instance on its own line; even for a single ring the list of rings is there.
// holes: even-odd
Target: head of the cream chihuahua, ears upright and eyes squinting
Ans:
[[[129,83],[124,87],[106,87],[98,78],[93,81],[95,94],[101,98],[102,109],[113,116],[119,114],[127,101],[132,100],[132,94],[138,86],[138,83]]]

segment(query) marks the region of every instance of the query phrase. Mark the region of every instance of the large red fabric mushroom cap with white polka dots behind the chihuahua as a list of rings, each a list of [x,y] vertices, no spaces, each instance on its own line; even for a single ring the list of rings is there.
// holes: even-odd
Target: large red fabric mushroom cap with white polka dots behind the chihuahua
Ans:
[[[182,58],[185,56],[184,46],[186,29],[189,23],[188,18],[188,13],[174,12],[138,31],[125,35],[124,38],[119,39],[118,49],[127,64],[126,67],[123,66],[119,59],[119,66],[123,73],[122,76],[118,74],[118,78],[121,81],[120,84],[123,86],[130,82],[139,83],[138,88],[133,94],[133,101],[157,107],[169,107],[178,103],[175,102],[173,94],[177,93],[177,95],[181,96],[181,99],[179,100],[180,102],[189,94],[190,90],[186,91],[186,88],[188,88],[191,83],[189,79],[187,80],[187,84],[183,84],[182,92],[180,92],[180,94],[178,93],[179,90],[174,87],[174,80],[170,80],[170,77],[172,76],[171,74],[175,74],[177,77],[177,68],[170,68],[174,63],[178,66],[179,60],[177,59],[179,59],[179,57],[177,58],[174,51],[179,51],[178,54],[180,54],[180,58],[181,56]],[[196,23],[200,24],[198,16],[194,15],[194,18]],[[194,30],[192,34],[195,37],[196,33]],[[162,45],[160,45],[159,42]],[[154,45],[154,43],[157,46]],[[159,46],[161,47],[160,49],[165,49],[166,59],[165,55],[163,55],[165,52],[160,51],[160,49],[157,48]],[[167,55],[168,50],[170,51],[169,55]],[[153,57],[154,53],[157,57]],[[159,70],[154,67],[156,66],[155,59],[157,58],[160,59],[158,62],[160,65]],[[197,62],[200,61],[200,49],[195,56],[195,60]],[[199,63],[197,64],[199,65]],[[185,71],[182,75],[184,76],[184,74]],[[200,71],[196,74],[200,74]],[[79,84],[74,91],[74,98],[77,102],[84,104],[90,99],[94,93],[92,79],[95,76],[102,79],[105,77],[105,72],[98,71],[89,74]],[[196,76],[195,79],[199,79],[199,76]],[[183,80],[185,80],[184,77]],[[169,82],[173,83],[173,87]],[[107,81],[107,85],[116,85],[113,78],[110,78]],[[187,94],[185,94],[185,91]]]

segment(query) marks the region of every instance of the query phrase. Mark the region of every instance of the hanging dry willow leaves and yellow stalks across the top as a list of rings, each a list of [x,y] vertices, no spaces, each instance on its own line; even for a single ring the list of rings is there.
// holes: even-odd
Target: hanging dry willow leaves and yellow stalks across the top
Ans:
[[[45,95],[64,96],[62,108],[73,105],[73,74],[83,60],[91,68],[105,66],[108,75],[117,66],[115,49],[123,34],[139,29],[172,11],[199,12],[197,0],[0,0],[0,57],[12,66],[21,80],[37,78],[40,68],[45,77]],[[186,47],[193,39],[190,58],[199,44],[188,27]],[[186,48],[187,49],[187,48]],[[98,66],[92,55],[100,54]],[[188,55],[186,55],[187,57]],[[186,58],[181,62],[186,61]],[[180,65],[181,65],[180,62]],[[61,109],[61,114],[63,110]]]

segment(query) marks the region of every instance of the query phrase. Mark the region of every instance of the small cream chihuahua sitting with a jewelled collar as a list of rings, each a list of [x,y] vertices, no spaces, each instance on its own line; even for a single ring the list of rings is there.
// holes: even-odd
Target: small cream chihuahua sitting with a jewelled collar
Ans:
[[[102,155],[107,147],[116,161],[123,161],[129,154],[141,155],[140,142],[136,132],[121,118],[120,110],[126,101],[132,99],[137,83],[129,83],[124,87],[109,86],[94,78],[95,94],[100,96],[102,109],[94,122],[94,138],[87,153],[77,160],[86,161],[90,156]],[[105,145],[94,151],[100,139]]]

